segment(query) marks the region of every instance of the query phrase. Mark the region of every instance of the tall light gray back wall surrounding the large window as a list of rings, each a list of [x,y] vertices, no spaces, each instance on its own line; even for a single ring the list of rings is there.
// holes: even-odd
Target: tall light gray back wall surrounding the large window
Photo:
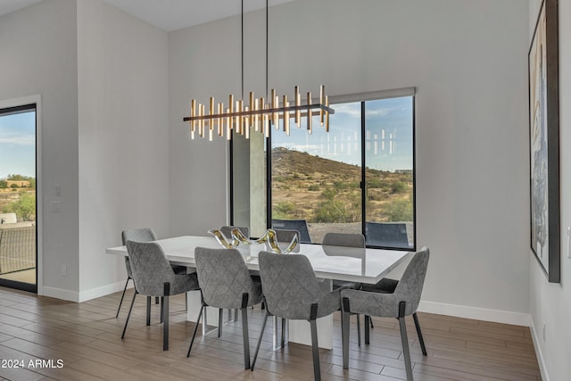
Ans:
[[[269,87],[278,93],[321,83],[329,95],[417,87],[427,311],[527,322],[527,14],[519,0],[302,0],[270,9]],[[262,17],[245,25],[244,87],[258,95]],[[240,94],[239,30],[235,17],[169,35],[172,234],[204,234],[226,219],[226,145],[188,142],[181,119],[193,97],[228,103]]]

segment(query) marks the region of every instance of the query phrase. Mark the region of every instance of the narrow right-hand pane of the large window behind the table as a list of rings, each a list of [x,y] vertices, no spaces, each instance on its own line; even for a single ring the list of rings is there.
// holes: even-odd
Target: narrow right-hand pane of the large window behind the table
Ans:
[[[365,103],[367,244],[414,246],[413,97]]]

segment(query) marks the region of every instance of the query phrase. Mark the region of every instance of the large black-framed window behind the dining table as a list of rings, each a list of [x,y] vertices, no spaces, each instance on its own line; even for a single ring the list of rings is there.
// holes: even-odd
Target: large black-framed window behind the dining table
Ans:
[[[273,129],[268,141],[248,145],[249,157],[266,153],[266,173],[256,174],[252,164],[239,166],[250,169],[250,193],[252,178],[269,180],[266,195],[256,197],[271,205],[264,208],[269,216],[263,228],[304,223],[312,243],[321,243],[327,232],[345,232],[364,234],[369,246],[414,249],[414,89],[334,97],[331,104],[328,133],[319,117],[311,135],[303,121],[295,128],[292,120],[290,136]],[[233,154],[235,178],[238,157]],[[246,186],[236,190],[237,183],[234,193],[244,195]],[[252,197],[249,202],[255,203]],[[245,209],[252,215],[251,204]],[[244,203],[235,202],[233,211],[242,216],[235,223],[252,226],[252,216],[244,219]]]

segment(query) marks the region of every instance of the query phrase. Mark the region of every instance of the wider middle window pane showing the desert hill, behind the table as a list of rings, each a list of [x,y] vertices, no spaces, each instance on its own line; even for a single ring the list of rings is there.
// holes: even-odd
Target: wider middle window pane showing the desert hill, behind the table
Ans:
[[[361,232],[360,103],[332,107],[329,133],[319,117],[313,118],[311,135],[305,120],[299,129],[291,120],[289,137],[272,131],[273,226],[307,225],[313,243],[330,231]]]

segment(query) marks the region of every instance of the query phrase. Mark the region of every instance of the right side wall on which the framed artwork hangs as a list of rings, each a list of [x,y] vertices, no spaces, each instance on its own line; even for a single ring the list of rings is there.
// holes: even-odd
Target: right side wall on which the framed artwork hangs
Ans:
[[[529,1],[529,41],[541,1]],[[571,375],[571,260],[567,258],[567,227],[571,226],[571,1],[559,0],[559,195],[561,222],[561,283],[550,284],[531,250],[530,312],[536,352],[545,380],[569,379]],[[542,325],[545,323],[545,341]]]

